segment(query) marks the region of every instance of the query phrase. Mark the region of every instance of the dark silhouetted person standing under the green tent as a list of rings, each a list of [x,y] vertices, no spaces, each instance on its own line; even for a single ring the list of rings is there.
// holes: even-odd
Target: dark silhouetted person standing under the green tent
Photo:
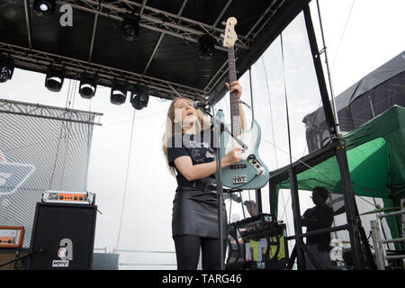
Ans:
[[[312,189],[312,202],[315,207],[308,209],[302,215],[302,226],[307,228],[307,232],[319,229],[326,229],[332,226],[333,210],[325,204],[328,199],[328,191],[320,186]],[[319,260],[322,268],[330,267],[330,233],[317,234],[307,237],[307,247]],[[306,256],[307,269],[316,269],[311,262],[311,257]]]

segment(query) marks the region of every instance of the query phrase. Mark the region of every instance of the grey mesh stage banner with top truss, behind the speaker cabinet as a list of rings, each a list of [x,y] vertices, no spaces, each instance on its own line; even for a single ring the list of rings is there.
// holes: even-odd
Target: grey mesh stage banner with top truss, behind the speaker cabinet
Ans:
[[[85,192],[94,113],[0,99],[0,225],[29,247],[47,190]]]

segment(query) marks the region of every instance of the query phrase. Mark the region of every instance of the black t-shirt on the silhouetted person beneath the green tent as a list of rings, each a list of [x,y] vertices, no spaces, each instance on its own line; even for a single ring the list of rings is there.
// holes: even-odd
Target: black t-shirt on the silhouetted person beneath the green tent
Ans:
[[[307,227],[307,232],[330,228],[333,222],[333,210],[323,204],[308,209],[302,215],[302,226]],[[328,250],[330,245],[330,233],[324,233],[307,237],[307,244],[319,244],[320,249]]]

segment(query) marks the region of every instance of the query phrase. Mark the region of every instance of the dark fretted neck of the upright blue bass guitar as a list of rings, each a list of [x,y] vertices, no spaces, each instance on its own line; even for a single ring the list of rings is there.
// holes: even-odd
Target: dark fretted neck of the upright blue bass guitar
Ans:
[[[229,63],[229,84],[237,81],[237,73],[235,66],[235,50],[233,46],[228,47],[228,63]],[[238,105],[238,92],[232,92],[229,94],[230,100],[230,123],[231,131],[234,136],[238,136],[241,132],[241,121],[239,115]]]

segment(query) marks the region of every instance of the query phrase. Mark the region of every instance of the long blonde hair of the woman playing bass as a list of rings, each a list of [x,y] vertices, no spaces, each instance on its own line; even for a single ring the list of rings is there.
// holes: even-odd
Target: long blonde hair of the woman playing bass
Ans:
[[[187,97],[175,97],[175,99],[173,99],[173,101],[172,101],[172,103],[170,103],[169,109],[167,111],[165,133],[163,134],[163,138],[162,138],[162,150],[163,150],[163,154],[166,157],[166,165],[170,171],[170,174],[173,176],[175,176],[175,167],[168,166],[167,143],[168,143],[169,139],[172,138],[173,135],[178,134],[178,130],[175,130],[175,103],[182,99],[191,101],[193,103],[193,100],[191,100],[190,98],[187,98]],[[197,114],[197,121],[195,122],[195,131],[197,133],[199,133],[201,130],[208,129],[211,126],[211,124],[210,124],[210,120],[208,119],[208,117],[205,116],[201,110],[197,109],[196,114]]]

